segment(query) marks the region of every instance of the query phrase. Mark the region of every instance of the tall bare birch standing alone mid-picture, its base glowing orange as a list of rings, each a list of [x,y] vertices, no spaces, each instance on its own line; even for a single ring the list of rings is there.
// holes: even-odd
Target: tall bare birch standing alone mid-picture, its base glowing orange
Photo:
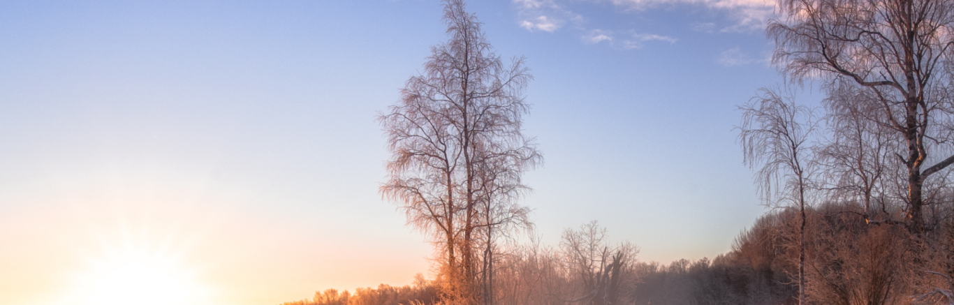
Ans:
[[[521,128],[531,79],[523,58],[505,66],[465,9],[462,0],[444,1],[450,39],[431,48],[424,73],[379,117],[392,153],[381,193],[438,247],[442,294],[452,304],[485,298],[478,252],[505,223],[529,223],[513,200],[527,190],[521,174],[542,162]]]

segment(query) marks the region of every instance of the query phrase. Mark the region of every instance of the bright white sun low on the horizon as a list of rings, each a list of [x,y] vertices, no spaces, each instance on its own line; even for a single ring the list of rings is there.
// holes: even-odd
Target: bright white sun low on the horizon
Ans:
[[[204,304],[208,292],[197,272],[176,256],[136,249],[113,252],[94,260],[76,277],[77,298],[88,305]]]

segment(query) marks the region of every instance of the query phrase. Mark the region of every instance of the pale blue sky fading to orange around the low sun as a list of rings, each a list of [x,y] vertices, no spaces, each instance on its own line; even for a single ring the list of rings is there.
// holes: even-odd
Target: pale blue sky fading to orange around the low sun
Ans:
[[[782,81],[773,3],[468,3],[534,76],[533,234],[555,247],[598,220],[642,261],[728,252],[768,211],[733,128]],[[150,293],[111,281],[130,266],[192,283],[197,304],[432,277],[425,236],[378,193],[375,118],[447,39],[441,16],[435,0],[0,2],[0,303]]]

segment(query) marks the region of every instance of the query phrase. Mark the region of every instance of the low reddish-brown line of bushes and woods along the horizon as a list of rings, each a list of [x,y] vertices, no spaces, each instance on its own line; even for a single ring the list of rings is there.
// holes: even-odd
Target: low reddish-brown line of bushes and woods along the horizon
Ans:
[[[954,209],[936,204],[923,234],[902,211],[851,202],[806,210],[805,292],[810,304],[954,303]],[[879,221],[872,218],[882,219]],[[595,221],[564,232],[558,247],[529,242],[498,249],[490,304],[798,304],[798,209],[779,209],[713,259],[640,262]],[[282,305],[411,305],[441,302],[442,277],[413,285],[317,292]],[[492,297],[492,298],[489,298]]]

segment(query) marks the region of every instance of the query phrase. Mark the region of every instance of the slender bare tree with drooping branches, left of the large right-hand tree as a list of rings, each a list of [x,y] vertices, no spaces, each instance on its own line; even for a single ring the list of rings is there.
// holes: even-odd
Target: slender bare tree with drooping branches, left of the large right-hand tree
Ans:
[[[738,140],[745,163],[759,167],[756,182],[762,199],[770,205],[798,207],[798,303],[805,304],[805,196],[812,174],[808,141],[816,129],[813,111],[796,105],[791,96],[765,89],[740,110]]]

